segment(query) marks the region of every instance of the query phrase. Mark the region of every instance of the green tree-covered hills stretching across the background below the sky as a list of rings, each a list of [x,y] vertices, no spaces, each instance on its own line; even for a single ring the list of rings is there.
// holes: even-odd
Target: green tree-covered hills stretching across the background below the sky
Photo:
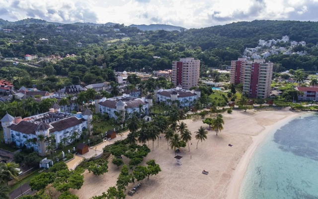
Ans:
[[[0,56],[23,58],[25,54],[36,54],[41,58],[36,62],[45,68],[42,76],[69,76],[74,83],[87,80],[88,76],[94,78],[91,74],[103,78],[95,73],[95,66],[149,72],[171,68],[171,62],[181,57],[200,59],[202,73],[206,67],[225,68],[231,60],[241,56],[246,47],[255,48],[259,39],[281,39],[283,35],[288,35],[290,40],[306,41],[306,45],[294,47],[291,54],[306,51],[307,55],[280,53],[268,57],[276,63],[276,72],[297,68],[314,71],[318,66],[318,47],[315,46],[318,22],[311,21],[255,20],[200,29],[181,28],[180,31],[142,31],[115,23],[54,24],[40,19],[0,20],[0,23],[3,29],[12,30],[0,31]],[[48,41],[42,42],[41,38]],[[286,43],[277,45],[288,46]],[[67,54],[77,57],[66,59]],[[51,55],[64,59],[43,61]]]

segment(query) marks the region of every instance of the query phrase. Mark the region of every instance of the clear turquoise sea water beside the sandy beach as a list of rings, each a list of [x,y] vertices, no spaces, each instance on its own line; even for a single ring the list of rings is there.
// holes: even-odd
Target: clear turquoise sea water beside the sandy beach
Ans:
[[[318,199],[318,115],[270,132],[251,157],[239,199]]]

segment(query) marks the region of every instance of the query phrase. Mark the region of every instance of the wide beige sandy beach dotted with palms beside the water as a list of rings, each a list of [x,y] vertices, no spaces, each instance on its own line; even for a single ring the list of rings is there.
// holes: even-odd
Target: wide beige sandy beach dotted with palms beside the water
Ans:
[[[150,142],[149,148],[152,152],[144,159],[143,164],[150,159],[155,159],[162,171],[157,176],[151,176],[149,181],[143,180],[143,186],[133,198],[236,199],[249,158],[257,145],[267,132],[278,128],[299,114],[303,113],[292,112],[288,109],[247,110],[247,112],[234,110],[232,114],[223,113],[224,130],[219,132],[218,136],[215,131],[208,131],[208,139],[199,142],[198,149],[196,149],[197,140],[194,138],[194,132],[200,126],[207,129],[208,125],[203,124],[202,119],[183,120],[192,132],[192,140],[190,152],[186,146],[176,154],[183,157],[182,165],[176,164],[175,153],[170,147],[167,149],[167,141],[164,140],[163,134],[159,140],[159,146],[158,141],[155,141],[154,150]],[[228,146],[230,143],[232,147]],[[128,163],[128,161],[124,157],[124,162]],[[101,176],[94,176],[86,170],[82,188],[72,190],[71,193],[79,196],[79,199],[89,199],[115,186],[120,169],[111,163],[111,157],[108,165],[109,172]],[[209,171],[209,174],[202,174],[203,170]],[[130,184],[125,193],[127,194],[133,187],[134,184]]]

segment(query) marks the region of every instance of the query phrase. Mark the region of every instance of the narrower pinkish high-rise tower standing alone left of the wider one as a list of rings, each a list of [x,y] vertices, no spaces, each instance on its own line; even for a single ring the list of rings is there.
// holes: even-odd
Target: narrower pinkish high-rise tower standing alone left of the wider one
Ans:
[[[172,62],[172,83],[181,85],[182,89],[198,86],[200,74],[200,60],[194,58],[181,58]]]

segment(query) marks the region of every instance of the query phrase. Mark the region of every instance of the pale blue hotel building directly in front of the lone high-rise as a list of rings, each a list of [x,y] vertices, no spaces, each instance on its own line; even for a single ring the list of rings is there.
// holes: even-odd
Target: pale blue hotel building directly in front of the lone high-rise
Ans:
[[[176,89],[155,89],[156,102],[163,101],[171,105],[174,101],[178,101],[178,107],[192,106],[196,100],[201,97],[200,90],[185,90],[177,87]]]

